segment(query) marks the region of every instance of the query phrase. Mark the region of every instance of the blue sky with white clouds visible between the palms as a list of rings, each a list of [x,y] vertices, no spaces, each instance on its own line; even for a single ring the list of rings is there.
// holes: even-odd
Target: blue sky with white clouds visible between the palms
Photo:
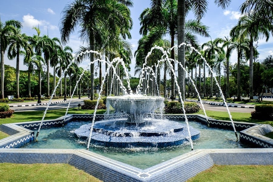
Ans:
[[[71,1],[67,0],[9,0],[0,1],[0,18],[2,22],[6,20],[15,19],[22,22],[23,28],[22,33],[26,33],[29,36],[36,34],[32,27],[36,26],[41,30],[41,34],[48,34],[49,37],[60,38],[59,22],[62,17],[63,8]],[[205,25],[209,26],[209,32],[211,38],[199,37],[200,44],[207,42],[217,37],[224,38],[229,35],[229,32],[234,25],[237,24],[241,14],[239,13],[239,7],[244,0],[233,0],[229,7],[225,10],[218,8],[214,4],[214,0],[208,0],[208,10],[205,17],[201,20]],[[131,30],[132,39],[129,41],[133,47],[133,53],[137,48],[137,41],[141,38],[139,35],[140,22],[138,20],[140,13],[147,7],[150,6],[149,0],[133,0],[133,7],[131,10],[131,17],[133,19],[133,29]],[[190,13],[186,20],[194,19],[194,15]],[[167,37],[168,38],[168,37]],[[255,43],[254,43],[255,44]],[[80,42],[77,30],[70,36],[68,45],[72,47],[73,51],[76,52],[82,42]],[[265,39],[258,41],[258,52],[260,53],[260,60],[265,59],[269,55],[273,55],[273,38],[270,37],[268,42]],[[150,48],[147,48],[150,49]],[[237,62],[236,51],[231,55],[231,63]],[[23,58],[20,58],[23,60]],[[15,67],[16,60],[8,60],[7,53],[4,56],[5,64]],[[88,64],[88,60],[82,62],[79,66],[85,68]],[[131,76],[134,76],[135,59],[132,59]],[[20,70],[27,70],[27,66],[23,65],[23,61],[20,62]],[[105,69],[103,69],[105,70]],[[53,74],[53,69],[50,69]]]

